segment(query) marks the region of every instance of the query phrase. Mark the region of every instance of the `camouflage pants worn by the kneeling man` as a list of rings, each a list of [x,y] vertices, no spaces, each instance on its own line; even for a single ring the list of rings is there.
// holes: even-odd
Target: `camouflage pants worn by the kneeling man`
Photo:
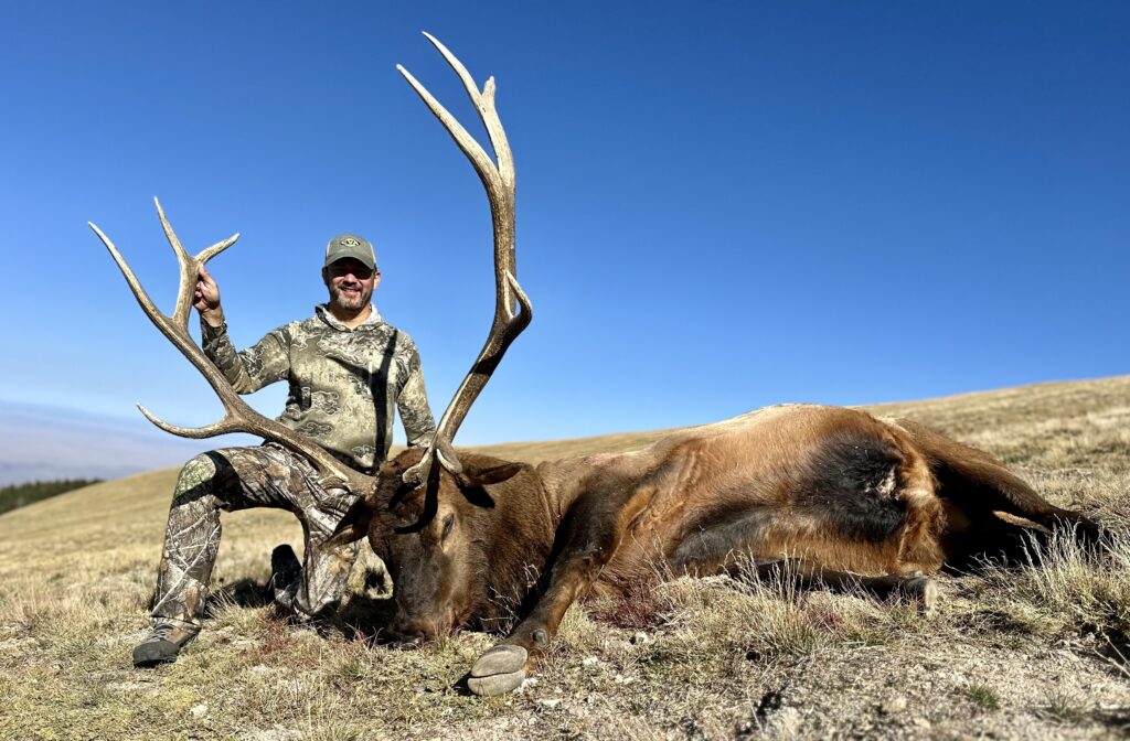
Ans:
[[[305,564],[293,583],[272,585],[275,600],[288,610],[316,614],[341,598],[357,558],[356,543],[324,546],[355,500],[344,489],[322,489],[305,459],[273,444],[198,455],[181,469],[173,495],[154,620],[200,627],[219,549],[219,513],[250,507],[278,507],[298,517]]]

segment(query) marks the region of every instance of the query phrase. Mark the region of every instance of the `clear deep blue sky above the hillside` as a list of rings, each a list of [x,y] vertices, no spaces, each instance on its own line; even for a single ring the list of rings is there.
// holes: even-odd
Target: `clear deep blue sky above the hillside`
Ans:
[[[211,263],[241,347],[372,238],[438,416],[490,232],[394,70],[481,136],[421,29],[497,80],[534,305],[461,443],[1130,372],[1125,3],[9,2],[0,399],[219,413],[86,227],[167,307],[157,195],[193,251],[242,233]]]

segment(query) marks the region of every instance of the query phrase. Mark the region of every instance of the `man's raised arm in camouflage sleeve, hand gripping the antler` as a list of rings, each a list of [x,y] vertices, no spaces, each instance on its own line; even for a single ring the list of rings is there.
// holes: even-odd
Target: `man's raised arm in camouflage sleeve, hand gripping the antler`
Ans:
[[[236,352],[227,335],[219,286],[200,265],[192,306],[200,313],[200,337],[205,355],[238,393],[251,393],[287,376],[290,354],[284,330],[275,330],[253,347]]]

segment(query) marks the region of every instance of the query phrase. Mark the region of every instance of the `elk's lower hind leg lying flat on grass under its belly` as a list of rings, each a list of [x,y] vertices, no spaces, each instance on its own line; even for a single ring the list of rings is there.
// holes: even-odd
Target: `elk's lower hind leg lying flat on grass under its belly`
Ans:
[[[799,558],[758,558],[754,563],[742,564],[738,574],[729,569],[731,575],[753,576],[757,579],[771,578],[788,574],[805,589],[825,587],[834,592],[846,592],[862,587],[879,599],[898,598],[916,603],[929,614],[938,604],[938,583],[920,572],[910,574],[888,574],[886,576],[859,576],[847,572],[836,572],[823,568]]]

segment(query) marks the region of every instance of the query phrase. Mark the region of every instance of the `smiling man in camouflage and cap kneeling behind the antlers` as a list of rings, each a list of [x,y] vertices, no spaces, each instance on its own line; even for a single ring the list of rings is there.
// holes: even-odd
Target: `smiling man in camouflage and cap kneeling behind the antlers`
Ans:
[[[200,268],[193,306],[205,354],[240,393],[282,381],[290,385],[279,421],[306,435],[346,464],[374,472],[392,444],[393,407],[408,444],[425,445],[435,422],[411,338],[388,324],[370,303],[381,282],[373,246],[342,234],[325,247],[322,280],[329,303],[236,352],[227,335],[219,288]],[[133,664],[176,660],[200,631],[208,582],[220,538],[220,511],[289,509],[305,534],[305,565],[289,546],[271,555],[270,589],[284,609],[318,616],[340,599],[357,556],[356,543],[324,542],[356,499],[324,489],[313,467],[275,443],[199,455],[181,470],[168,513],[157,576],[153,630],[133,650]]]

